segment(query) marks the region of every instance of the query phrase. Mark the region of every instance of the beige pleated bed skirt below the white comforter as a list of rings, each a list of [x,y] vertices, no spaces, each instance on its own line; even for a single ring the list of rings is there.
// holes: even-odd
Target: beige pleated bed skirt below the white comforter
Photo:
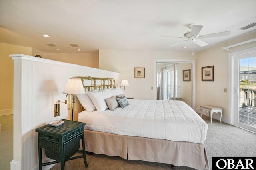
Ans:
[[[95,154],[209,169],[203,143],[176,142],[84,130],[85,150]],[[82,149],[80,144],[80,149]]]

